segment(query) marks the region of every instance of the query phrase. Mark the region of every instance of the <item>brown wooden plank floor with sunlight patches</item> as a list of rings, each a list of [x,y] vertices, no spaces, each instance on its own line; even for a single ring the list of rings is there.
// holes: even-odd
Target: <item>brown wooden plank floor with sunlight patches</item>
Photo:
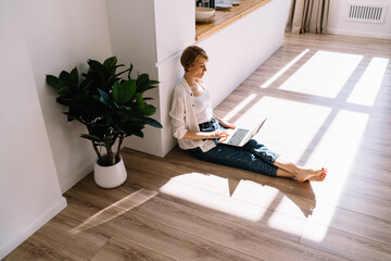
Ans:
[[[324,183],[124,149],[123,186],[88,175],[4,260],[391,260],[390,59],[391,40],[288,34],[216,108],[266,113],[257,139]]]

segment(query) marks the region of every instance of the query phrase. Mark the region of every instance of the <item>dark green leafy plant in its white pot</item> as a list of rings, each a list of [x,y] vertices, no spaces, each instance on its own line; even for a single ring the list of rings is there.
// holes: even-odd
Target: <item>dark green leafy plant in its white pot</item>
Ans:
[[[61,72],[59,77],[47,75],[46,80],[56,89],[56,101],[67,108],[64,112],[67,121],[76,120],[87,128],[87,133],[80,136],[92,142],[98,156],[94,167],[97,184],[115,187],[125,182],[126,174],[125,178],[122,174],[121,181],[114,183],[114,177],[105,172],[118,162],[123,165],[119,151],[124,138],[130,135],[142,138],[142,129],[147,124],[162,127],[150,117],[156,112],[155,107],[147,103],[152,98],[143,97],[144,91],[155,88],[159,82],[151,80],[148,74],[137,74],[136,78],[131,78],[131,64],[117,73],[117,69],[125,65],[117,64],[116,57],[106,59],[103,64],[94,60],[88,60],[87,64],[89,70],[81,74],[83,79],[79,79],[79,73],[74,67],[71,72]],[[123,78],[125,74],[127,76]],[[125,170],[124,166],[119,169]],[[102,181],[97,181],[97,172],[103,172]],[[104,182],[109,184],[102,184]]]

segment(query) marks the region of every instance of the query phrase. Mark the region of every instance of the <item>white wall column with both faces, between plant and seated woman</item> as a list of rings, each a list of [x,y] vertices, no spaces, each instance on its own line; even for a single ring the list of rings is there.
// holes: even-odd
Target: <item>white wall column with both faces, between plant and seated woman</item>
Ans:
[[[112,51],[124,64],[134,64],[134,71],[148,73],[152,79],[161,82],[159,88],[149,90],[146,96],[157,108],[153,116],[163,125],[163,129],[147,126],[144,138],[128,137],[125,147],[163,157],[174,146],[167,107],[171,88],[175,82],[167,82],[180,73],[177,65],[162,66],[171,62],[172,57],[188,45],[193,44],[194,2],[192,0],[108,0],[108,14]],[[178,12],[180,10],[180,12]],[[164,64],[165,63],[165,64]],[[178,71],[179,70],[179,71]],[[168,91],[168,92],[167,92]],[[168,149],[167,145],[168,142]]]

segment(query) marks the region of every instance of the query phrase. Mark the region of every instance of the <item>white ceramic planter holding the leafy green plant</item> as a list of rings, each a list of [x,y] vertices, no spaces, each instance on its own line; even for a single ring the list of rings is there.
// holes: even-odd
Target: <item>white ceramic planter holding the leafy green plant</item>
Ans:
[[[122,185],[127,177],[124,161],[119,156],[119,161],[115,165],[101,166],[98,159],[93,165],[93,178],[98,186],[102,188],[114,188]]]

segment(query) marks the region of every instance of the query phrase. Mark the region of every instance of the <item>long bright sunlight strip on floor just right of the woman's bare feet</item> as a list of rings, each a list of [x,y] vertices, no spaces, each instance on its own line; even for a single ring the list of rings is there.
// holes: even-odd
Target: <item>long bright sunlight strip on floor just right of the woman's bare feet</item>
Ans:
[[[338,206],[343,188],[349,186],[346,178],[368,117],[366,113],[339,111],[314,153],[311,154],[310,164],[323,164],[328,170],[324,183],[313,183],[318,201],[332,207]],[[336,208],[326,208],[327,214],[324,214],[319,209],[313,216],[316,222],[320,222],[326,227],[319,226],[324,229],[315,229],[312,233],[304,234],[303,237],[319,243],[326,237],[327,225],[331,223],[336,210]]]

